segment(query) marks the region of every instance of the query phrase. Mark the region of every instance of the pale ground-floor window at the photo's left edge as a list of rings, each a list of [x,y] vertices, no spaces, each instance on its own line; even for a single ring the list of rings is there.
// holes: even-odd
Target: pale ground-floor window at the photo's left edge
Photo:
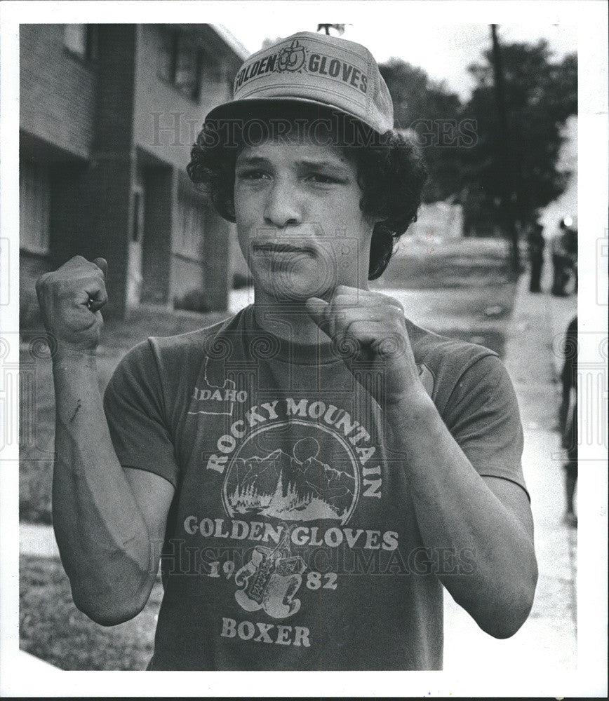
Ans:
[[[48,253],[51,184],[48,168],[22,162],[19,172],[20,248]]]

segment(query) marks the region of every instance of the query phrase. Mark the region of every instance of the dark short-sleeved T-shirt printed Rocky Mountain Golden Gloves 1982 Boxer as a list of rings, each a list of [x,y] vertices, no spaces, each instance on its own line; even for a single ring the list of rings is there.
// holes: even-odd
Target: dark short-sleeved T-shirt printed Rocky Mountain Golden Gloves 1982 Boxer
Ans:
[[[407,327],[471,464],[526,489],[497,355]],[[250,306],[117,367],[105,410],[119,461],[175,487],[149,669],[441,669],[437,573],[472,571],[474,553],[423,543],[408,458],[345,361],[261,329]]]

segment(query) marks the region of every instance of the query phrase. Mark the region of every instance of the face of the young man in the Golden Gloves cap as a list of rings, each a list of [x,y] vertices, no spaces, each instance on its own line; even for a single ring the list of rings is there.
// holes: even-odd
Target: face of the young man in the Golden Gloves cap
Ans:
[[[356,165],[312,140],[267,141],[236,159],[234,206],[257,301],[329,299],[368,287],[374,221],[360,210]]]

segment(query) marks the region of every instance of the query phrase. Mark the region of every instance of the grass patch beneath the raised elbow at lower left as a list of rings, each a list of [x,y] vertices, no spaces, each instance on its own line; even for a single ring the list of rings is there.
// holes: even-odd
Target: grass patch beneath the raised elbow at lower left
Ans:
[[[74,606],[59,560],[22,555],[20,648],[60,669],[146,669],[162,593],[159,579],[140,615],[104,627]]]

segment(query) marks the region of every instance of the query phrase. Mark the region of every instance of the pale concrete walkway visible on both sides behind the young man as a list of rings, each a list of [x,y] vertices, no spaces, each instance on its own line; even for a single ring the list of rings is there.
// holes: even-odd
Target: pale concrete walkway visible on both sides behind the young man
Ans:
[[[518,285],[508,325],[505,364],[521,409],[525,433],[523,466],[535,519],[540,578],[529,620],[508,640],[481,632],[448,593],[445,604],[445,669],[481,667],[505,673],[574,669],[577,665],[575,554],[577,532],[562,522],[563,470],[556,411],[561,358],[554,352],[575,314],[575,297],[530,294],[528,275]],[[554,341],[554,343],[553,343]],[[553,351],[554,348],[554,351]],[[22,524],[20,551],[58,557],[49,526]]]

